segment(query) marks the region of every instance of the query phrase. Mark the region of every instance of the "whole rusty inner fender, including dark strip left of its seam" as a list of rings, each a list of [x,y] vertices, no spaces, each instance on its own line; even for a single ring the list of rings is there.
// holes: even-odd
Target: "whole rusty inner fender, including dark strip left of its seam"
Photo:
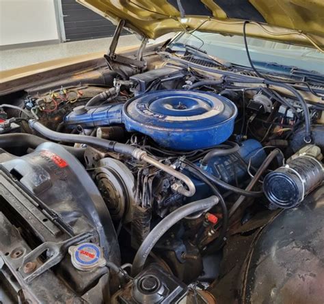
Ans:
[[[263,216],[232,231],[209,292],[217,303],[323,304],[324,186]]]

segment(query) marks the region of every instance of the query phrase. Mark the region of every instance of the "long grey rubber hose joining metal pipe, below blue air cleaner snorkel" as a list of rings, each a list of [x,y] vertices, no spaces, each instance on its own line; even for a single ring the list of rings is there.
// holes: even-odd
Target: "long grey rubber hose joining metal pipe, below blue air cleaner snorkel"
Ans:
[[[109,141],[108,139],[100,139],[98,137],[91,137],[87,135],[55,132],[49,128],[46,128],[46,126],[43,126],[36,120],[29,120],[29,126],[44,137],[52,139],[53,141],[63,141],[66,143],[86,143],[109,151],[128,155],[132,155],[133,151],[136,149],[133,146],[129,146],[124,143],[118,143],[116,141]]]

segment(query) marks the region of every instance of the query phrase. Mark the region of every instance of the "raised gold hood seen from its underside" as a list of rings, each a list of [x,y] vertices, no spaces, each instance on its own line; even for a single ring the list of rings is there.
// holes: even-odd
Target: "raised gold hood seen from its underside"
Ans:
[[[324,0],[77,0],[142,36],[172,31],[217,32],[324,49]]]

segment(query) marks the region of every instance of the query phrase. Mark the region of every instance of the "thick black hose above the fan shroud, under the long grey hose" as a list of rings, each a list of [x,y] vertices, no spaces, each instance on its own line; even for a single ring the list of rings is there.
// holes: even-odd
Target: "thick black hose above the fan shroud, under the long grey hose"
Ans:
[[[41,143],[46,143],[48,140],[43,139],[42,137],[38,137],[36,135],[28,134],[28,133],[12,133],[12,134],[1,134],[0,135],[0,147],[1,148],[16,148],[16,147],[24,147],[24,148],[32,148],[35,149]],[[64,146],[68,152],[73,154],[78,159],[83,160],[83,154],[85,152],[85,148],[74,148],[70,146]]]

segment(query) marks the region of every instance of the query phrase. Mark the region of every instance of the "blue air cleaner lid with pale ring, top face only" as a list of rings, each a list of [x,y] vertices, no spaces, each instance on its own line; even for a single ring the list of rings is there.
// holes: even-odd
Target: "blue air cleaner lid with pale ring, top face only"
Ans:
[[[206,128],[237,115],[227,98],[195,90],[161,90],[126,102],[124,121],[160,128]]]

